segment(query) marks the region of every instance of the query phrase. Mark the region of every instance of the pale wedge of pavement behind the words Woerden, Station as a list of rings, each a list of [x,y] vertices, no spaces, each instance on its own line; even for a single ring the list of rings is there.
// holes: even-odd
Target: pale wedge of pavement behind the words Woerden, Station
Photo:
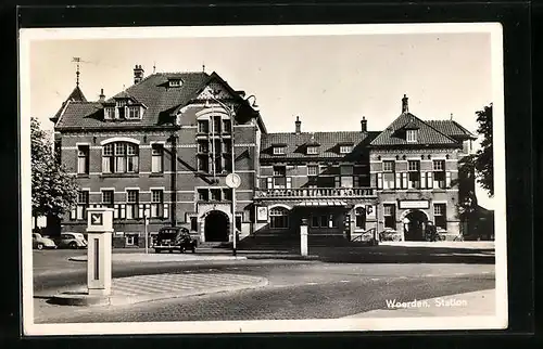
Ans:
[[[484,289],[411,301],[388,299],[386,308],[343,319],[490,315],[495,313],[495,289]]]

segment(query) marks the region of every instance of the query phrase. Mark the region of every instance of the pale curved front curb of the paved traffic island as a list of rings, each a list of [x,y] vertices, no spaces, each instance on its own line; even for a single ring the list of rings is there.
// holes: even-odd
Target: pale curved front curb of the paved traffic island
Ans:
[[[89,296],[85,290],[72,290],[54,295],[50,298],[50,302],[60,306],[76,306],[76,307],[103,307],[103,306],[126,306],[146,301],[155,301],[163,299],[175,299],[181,297],[195,297],[212,295],[226,292],[236,292],[244,289],[254,289],[264,287],[268,284],[265,277],[256,277],[256,282],[247,285],[233,286],[216,286],[206,289],[182,290],[173,293],[157,293],[141,296]]]

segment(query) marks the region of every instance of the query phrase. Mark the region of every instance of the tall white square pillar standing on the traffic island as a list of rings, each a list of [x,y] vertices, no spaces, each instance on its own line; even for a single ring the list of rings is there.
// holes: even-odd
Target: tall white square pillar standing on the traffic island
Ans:
[[[88,208],[87,287],[89,295],[111,294],[113,208]]]

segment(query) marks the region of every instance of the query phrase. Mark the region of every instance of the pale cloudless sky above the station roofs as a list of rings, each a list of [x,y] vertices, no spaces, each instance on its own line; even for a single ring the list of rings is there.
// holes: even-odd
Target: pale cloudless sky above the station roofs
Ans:
[[[477,130],[476,112],[493,102],[488,33],[35,40],[29,47],[30,114],[49,117],[76,83],[88,100],[109,98],[144,75],[216,72],[254,94],[268,132],[383,130],[401,99],[421,119],[450,119]],[[482,206],[492,199],[478,191]]]

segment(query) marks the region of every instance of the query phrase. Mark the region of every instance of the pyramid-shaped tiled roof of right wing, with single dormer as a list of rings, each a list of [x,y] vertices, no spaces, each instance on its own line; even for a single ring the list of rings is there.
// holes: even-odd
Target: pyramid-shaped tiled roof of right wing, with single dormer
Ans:
[[[406,128],[418,127],[416,142],[407,142],[405,138]],[[382,131],[374,141],[371,146],[388,145],[452,145],[457,146],[458,142],[451,137],[440,132],[432,126],[426,124],[411,113],[402,113],[384,131]]]

